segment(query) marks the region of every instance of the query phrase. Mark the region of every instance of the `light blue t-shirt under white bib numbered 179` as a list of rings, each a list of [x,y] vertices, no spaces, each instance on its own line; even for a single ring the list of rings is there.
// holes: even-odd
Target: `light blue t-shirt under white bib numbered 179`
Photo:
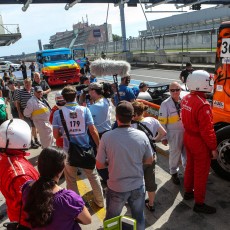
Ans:
[[[93,125],[93,117],[87,107],[79,106],[76,102],[66,103],[62,108],[66,125],[70,134],[70,141],[81,147],[89,148],[88,126]],[[54,113],[53,128],[57,128],[63,134],[63,149],[68,151],[69,141],[62,126],[59,111]]]

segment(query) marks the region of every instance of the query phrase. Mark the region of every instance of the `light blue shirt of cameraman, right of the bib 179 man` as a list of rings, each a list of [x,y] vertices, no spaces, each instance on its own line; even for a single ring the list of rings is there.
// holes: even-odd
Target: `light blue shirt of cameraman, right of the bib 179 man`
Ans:
[[[101,98],[89,107],[98,133],[111,129],[112,107],[106,98]]]

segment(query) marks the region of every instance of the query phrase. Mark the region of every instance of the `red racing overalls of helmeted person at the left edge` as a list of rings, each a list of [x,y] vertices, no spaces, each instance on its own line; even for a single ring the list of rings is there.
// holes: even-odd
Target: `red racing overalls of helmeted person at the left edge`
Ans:
[[[7,150],[7,155],[0,154],[0,190],[6,199],[10,221],[19,221],[23,184],[39,177],[37,170],[24,155],[25,152],[21,150]],[[20,224],[30,227],[25,219],[26,213],[22,210]]]

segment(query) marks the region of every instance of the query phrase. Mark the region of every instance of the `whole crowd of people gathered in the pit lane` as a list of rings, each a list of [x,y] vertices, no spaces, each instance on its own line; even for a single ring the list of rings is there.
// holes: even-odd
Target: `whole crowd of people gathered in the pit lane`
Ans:
[[[40,74],[33,71],[33,81],[23,77],[23,88],[13,79],[4,80],[9,88],[6,98],[3,88],[0,90],[0,106],[9,101],[13,117],[0,113],[0,190],[8,217],[18,222],[19,229],[81,229],[79,224],[91,223],[76,183],[79,167],[71,164],[68,155],[72,143],[93,149],[95,166],[82,171],[92,187],[94,203],[98,208],[106,206],[105,220],[119,216],[128,203],[137,229],[145,229],[145,207],[151,212],[156,208],[156,141],[169,145],[169,172],[175,185],[180,184],[182,161],[184,199],[195,200],[193,211],[216,212],[204,203],[210,161],[217,157],[212,112],[205,99],[205,93],[212,91],[210,74],[189,74],[186,84],[190,93],[183,99],[180,84],[172,82],[159,121],[145,117],[148,107],[136,100],[128,87],[130,76],[112,87],[111,100],[104,97],[103,84],[95,77],[90,83],[89,77],[82,76],[84,87],[65,86],[56,93],[53,108],[47,100],[51,89]],[[142,82],[139,90],[145,92],[147,87]],[[4,106],[2,109],[6,111]],[[37,171],[25,156],[26,150],[39,146]],[[67,189],[58,185],[63,173]],[[106,205],[102,183],[107,186]]]

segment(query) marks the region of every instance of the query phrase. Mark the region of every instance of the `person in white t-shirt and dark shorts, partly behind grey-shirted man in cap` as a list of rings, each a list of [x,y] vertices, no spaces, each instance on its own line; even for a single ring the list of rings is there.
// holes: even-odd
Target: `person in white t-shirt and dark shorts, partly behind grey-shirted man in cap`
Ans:
[[[144,112],[148,109],[148,106],[144,105],[142,102],[135,101],[132,103],[134,108],[134,117],[133,120],[137,122],[141,122],[144,126],[146,126],[154,139],[152,141],[160,141],[165,135],[166,131],[160,124],[158,120],[153,117],[144,117]],[[132,127],[139,127],[138,123],[132,124]],[[155,183],[155,163],[153,161],[152,165],[144,165],[144,179],[145,179],[145,187],[148,192],[148,197],[145,201],[145,205],[149,211],[153,212],[155,210],[154,200],[155,200],[155,191],[157,189],[157,185]]]

